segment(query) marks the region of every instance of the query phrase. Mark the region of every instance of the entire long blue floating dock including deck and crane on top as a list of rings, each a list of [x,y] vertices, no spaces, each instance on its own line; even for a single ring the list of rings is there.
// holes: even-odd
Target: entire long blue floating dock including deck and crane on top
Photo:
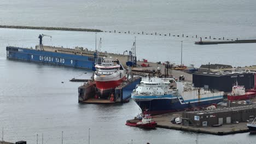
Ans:
[[[117,58],[122,64],[125,64],[128,58],[127,55],[115,53],[97,52],[96,54],[96,51],[90,51],[83,47],[68,49],[63,47],[44,46],[42,44],[42,38],[44,36],[49,35],[39,35],[39,45],[36,46],[36,49],[7,46],[7,59],[92,69],[95,64],[96,57]]]

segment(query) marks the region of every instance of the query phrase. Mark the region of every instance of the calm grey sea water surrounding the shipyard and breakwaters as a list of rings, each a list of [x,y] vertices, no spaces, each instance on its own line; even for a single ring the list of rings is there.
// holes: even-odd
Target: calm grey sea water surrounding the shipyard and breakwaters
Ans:
[[[254,65],[255,44],[194,45],[191,35],[255,39],[255,1],[1,1],[0,25],[97,28],[103,31],[133,31],[189,35],[189,38],[139,34],[98,33],[102,51],[123,53],[134,37],[137,56],[149,61],[181,59],[185,64],[224,63],[234,67]],[[0,127],[5,141],[36,143],[195,143],[196,134],[183,131],[143,130],[125,125],[139,113],[130,101],[123,105],[78,104],[82,83],[90,70],[9,61],[8,45],[34,47],[39,34],[45,45],[95,47],[95,33],[0,29]],[[152,54],[154,53],[154,54]],[[84,74],[87,72],[87,74]],[[64,83],[61,83],[61,82]],[[254,135],[213,136],[198,134],[198,143],[254,143]]]

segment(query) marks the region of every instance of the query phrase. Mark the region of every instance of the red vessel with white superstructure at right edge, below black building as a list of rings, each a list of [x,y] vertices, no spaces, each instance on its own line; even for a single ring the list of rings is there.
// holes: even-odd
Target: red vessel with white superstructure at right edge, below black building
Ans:
[[[236,85],[232,87],[232,92],[228,94],[228,100],[247,100],[254,96],[254,92],[245,92],[245,87],[238,86],[236,82]]]

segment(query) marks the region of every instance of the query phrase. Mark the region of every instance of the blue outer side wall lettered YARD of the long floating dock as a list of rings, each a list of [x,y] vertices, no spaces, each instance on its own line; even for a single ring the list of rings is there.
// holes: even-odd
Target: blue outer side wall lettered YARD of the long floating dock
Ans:
[[[7,46],[6,51],[8,59],[18,59],[21,61],[39,62],[86,69],[92,69],[94,66],[94,57],[89,56],[40,51],[13,46]]]

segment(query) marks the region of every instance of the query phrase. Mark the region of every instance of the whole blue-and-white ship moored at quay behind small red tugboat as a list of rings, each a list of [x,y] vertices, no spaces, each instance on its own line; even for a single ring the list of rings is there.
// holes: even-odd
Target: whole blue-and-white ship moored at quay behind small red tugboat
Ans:
[[[170,89],[170,80],[174,81],[149,77],[143,79],[133,90],[131,98],[142,111],[148,110],[152,115],[195,109],[223,100],[224,92],[205,91],[188,82],[176,82],[177,89]]]

